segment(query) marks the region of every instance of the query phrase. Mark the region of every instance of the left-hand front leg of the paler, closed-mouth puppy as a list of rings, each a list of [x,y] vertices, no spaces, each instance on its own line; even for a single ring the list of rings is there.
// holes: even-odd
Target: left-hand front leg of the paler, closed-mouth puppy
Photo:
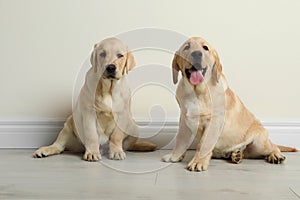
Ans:
[[[82,133],[79,133],[79,135],[85,146],[83,159],[86,161],[98,161],[101,159],[96,120],[96,114],[83,115],[83,130],[81,130]]]

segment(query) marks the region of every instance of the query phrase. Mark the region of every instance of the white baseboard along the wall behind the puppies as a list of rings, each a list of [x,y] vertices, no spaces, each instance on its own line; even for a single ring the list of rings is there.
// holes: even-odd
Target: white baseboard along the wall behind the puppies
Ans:
[[[0,148],[37,148],[51,144],[65,120],[6,120],[0,121]],[[137,120],[141,137],[159,148],[172,149],[178,129],[178,120]],[[271,140],[280,145],[300,149],[299,121],[264,121]],[[149,137],[151,136],[151,137]],[[193,148],[193,145],[192,147]]]

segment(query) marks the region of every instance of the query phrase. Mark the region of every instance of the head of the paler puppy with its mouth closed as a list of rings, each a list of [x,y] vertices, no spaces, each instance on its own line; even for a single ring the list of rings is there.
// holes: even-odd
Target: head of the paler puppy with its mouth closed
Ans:
[[[135,60],[128,47],[117,38],[108,38],[94,45],[91,64],[95,73],[104,79],[120,79],[134,66]]]

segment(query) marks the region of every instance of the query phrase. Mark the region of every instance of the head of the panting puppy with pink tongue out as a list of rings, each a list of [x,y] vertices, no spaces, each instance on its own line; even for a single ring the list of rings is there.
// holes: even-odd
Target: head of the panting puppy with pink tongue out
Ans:
[[[201,84],[204,79],[218,82],[222,65],[217,52],[200,37],[188,39],[176,52],[173,62],[173,82],[178,82],[178,72],[192,85]]]

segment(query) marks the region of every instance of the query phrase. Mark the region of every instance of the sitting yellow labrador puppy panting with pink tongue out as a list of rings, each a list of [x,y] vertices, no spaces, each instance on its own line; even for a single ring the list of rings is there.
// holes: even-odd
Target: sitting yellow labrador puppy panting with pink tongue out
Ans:
[[[280,149],[296,151],[269,140],[266,129],[228,87],[218,54],[204,39],[187,40],[176,52],[172,68],[174,84],[182,73],[176,91],[181,115],[175,148],[163,161],[181,161],[192,135],[198,146],[187,167],[190,171],[206,170],[212,156],[231,158],[233,163],[243,157],[266,157],[279,164],[285,160]]]

